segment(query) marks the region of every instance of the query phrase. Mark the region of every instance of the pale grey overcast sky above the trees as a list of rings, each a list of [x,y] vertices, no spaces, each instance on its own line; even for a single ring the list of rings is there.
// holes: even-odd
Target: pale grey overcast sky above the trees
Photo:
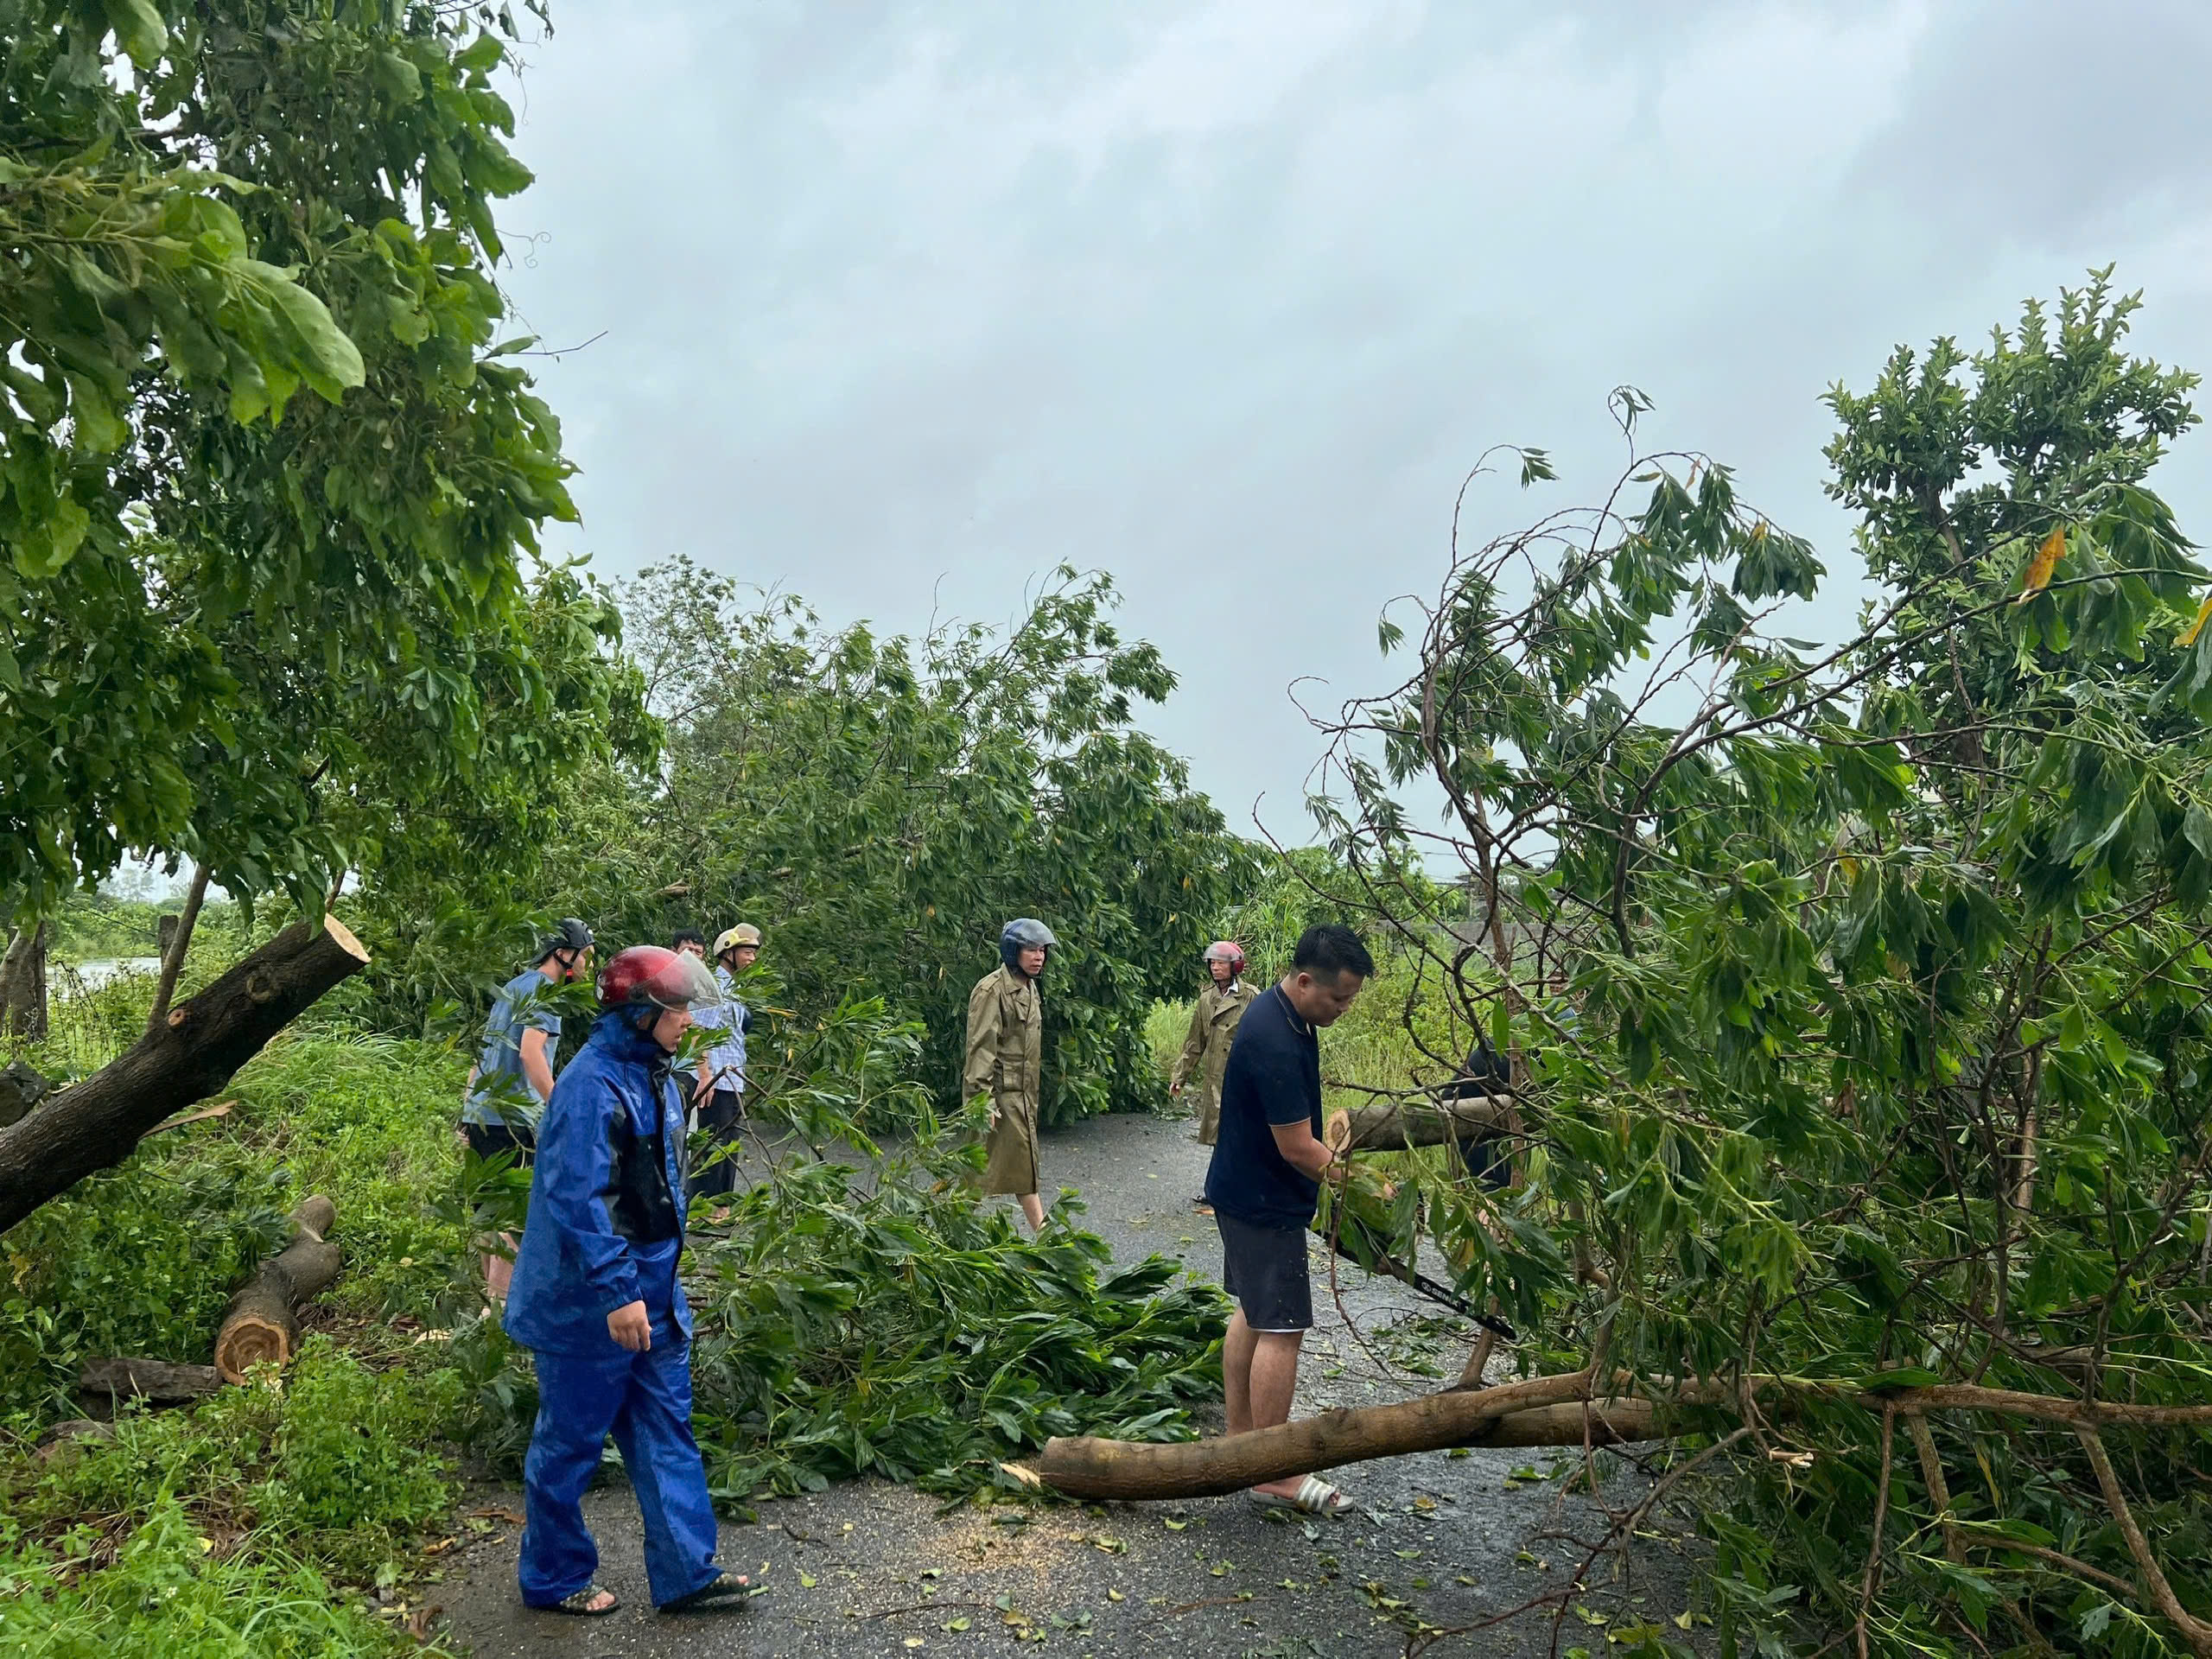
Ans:
[[[1146,726],[1305,838],[1287,686],[1610,482],[1606,392],[1856,568],[1820,392],[2090,265],[2212,367],[2212,4],[555,0],[509,288],[580,462],[557,542],[690,553],[836,622],[1004,622],[1106,568]],[[529,237],[529,241],[524,241]],[[2212,438],[2157,480],[2212,533]]]

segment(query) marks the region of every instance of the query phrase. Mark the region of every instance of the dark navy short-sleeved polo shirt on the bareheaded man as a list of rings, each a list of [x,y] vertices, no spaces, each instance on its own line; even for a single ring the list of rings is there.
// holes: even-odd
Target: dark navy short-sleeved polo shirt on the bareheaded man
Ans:
[[[1274,1124],[1307,1124],[1321,1139],[1321,1044],[1270,987],[1252,998],[1221,1077],[1221,1135],[1206,1168],[1206,1201],[1259,1228],[1305,1228],[1321,1183],[1274,1146]]]

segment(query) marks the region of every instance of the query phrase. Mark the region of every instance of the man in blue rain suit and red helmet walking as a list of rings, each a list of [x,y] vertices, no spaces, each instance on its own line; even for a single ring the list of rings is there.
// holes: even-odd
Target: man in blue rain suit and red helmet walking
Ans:
[[[714,1506],[690,1429],[684,1254],[684,1091],[670,1055],[719,998],[697,956],[633,945],[599,973],[599,1018],[538,1133],[531,1219],[515,1254],[507,1334],[538,1363],[538,1422],[522,1464],[522,1559],[533,1608],[599,1617],[619,1604],[593,1575],[582,1498],[606,1436],[646,1522],[646,1582],[661,1613],[741,1599],[714,1566]]]

